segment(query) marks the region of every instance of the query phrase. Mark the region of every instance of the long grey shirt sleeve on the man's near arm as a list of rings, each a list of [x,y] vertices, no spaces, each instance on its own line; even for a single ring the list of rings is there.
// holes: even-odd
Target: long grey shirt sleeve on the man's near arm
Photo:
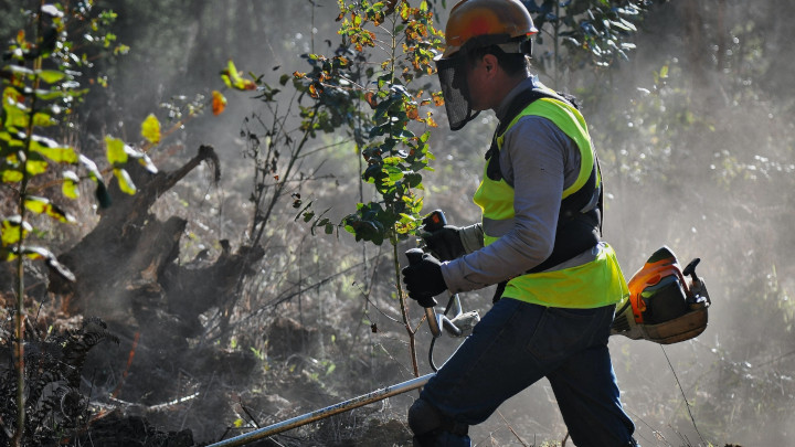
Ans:
[[[580,152],[547,118],[522,117],[505,136],[500,168],[513,187],[512,230],[492,244],[443,264],[452,292],[475,290],[541,264],[554,246],[561,198],[579,171]]]

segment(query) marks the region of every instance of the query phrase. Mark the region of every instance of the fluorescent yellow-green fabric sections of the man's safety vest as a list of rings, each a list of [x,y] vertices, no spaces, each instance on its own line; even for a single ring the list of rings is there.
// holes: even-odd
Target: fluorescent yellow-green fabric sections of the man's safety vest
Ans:
[[[571,105],[553,99],[532,102],[497,136],[501,149],[506,132],[523,116],[536,115],[555,124],[577,146],[581,166],[574,184],[563,191],[561,200],[581,189],[594,169],[594,153],[585,120]],[[499,157],[495,153],[491,157]],[[495,181],[484,169],[483,181],[474,201],[483,210],[484,243],[489,245],[513,228],[513,188],[505,179]],[[597,183],[601,179],[597,177]],[[504,297],[552,307],[594,308],[621,301],[628,294],[615,252],[607,244],[594,248],[595,259],[584,265],[519,276],[508,281]],[[553,267],[554,268],[554,267]]]

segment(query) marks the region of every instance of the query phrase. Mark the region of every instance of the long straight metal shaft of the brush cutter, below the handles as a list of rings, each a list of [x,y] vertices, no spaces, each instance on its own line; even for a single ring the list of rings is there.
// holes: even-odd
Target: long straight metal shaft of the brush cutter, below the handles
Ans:
[[[250,432],[243,435],[235,436],[233,438],[224,439],[215,444],[210,444],[208,447],[227,447],[227,446],[242,446],[248,443],[253,443],[257,439],[262,439],[277,433],[286,432],[292,428],[300,427],[303,425],[319,421],[329,416],[333,416],[339,413],[344,413],[360,406],[371,404],[373,402],[383,401],[384,398],[396,396],[405,392],[422,387],[427,381],[436,375],[435,373],[425,374],[421,377],[412,379],[399,383],[396,385],[390,385],[381,390],[375,390],[371,393],[353,397],[349,401],[340,402],[335,405],[327,406],[325,408],[316,409],[311,413],[307,413],[300,416],[296,416],[292,419],[283,421],[269,425],[267,427],[258,428],[254,432]]]

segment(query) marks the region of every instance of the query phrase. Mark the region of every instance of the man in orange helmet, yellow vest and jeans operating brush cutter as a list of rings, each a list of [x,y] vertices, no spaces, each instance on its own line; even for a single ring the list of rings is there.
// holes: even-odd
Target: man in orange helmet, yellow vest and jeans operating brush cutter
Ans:
[[[469,446],[471,425],[542,377],[577,447],[637,446],[607,349],[627,285],[601,240],[602,179],[571,97],[530,74],[538,32],[518,0],[463,0],[436,58],[451,128],[481,110],[499,127],[474,202],[481,223],[426,236],[403,268],[421,305],[449,290],[497,287],[494,307],[409,411],[415,446]]]

